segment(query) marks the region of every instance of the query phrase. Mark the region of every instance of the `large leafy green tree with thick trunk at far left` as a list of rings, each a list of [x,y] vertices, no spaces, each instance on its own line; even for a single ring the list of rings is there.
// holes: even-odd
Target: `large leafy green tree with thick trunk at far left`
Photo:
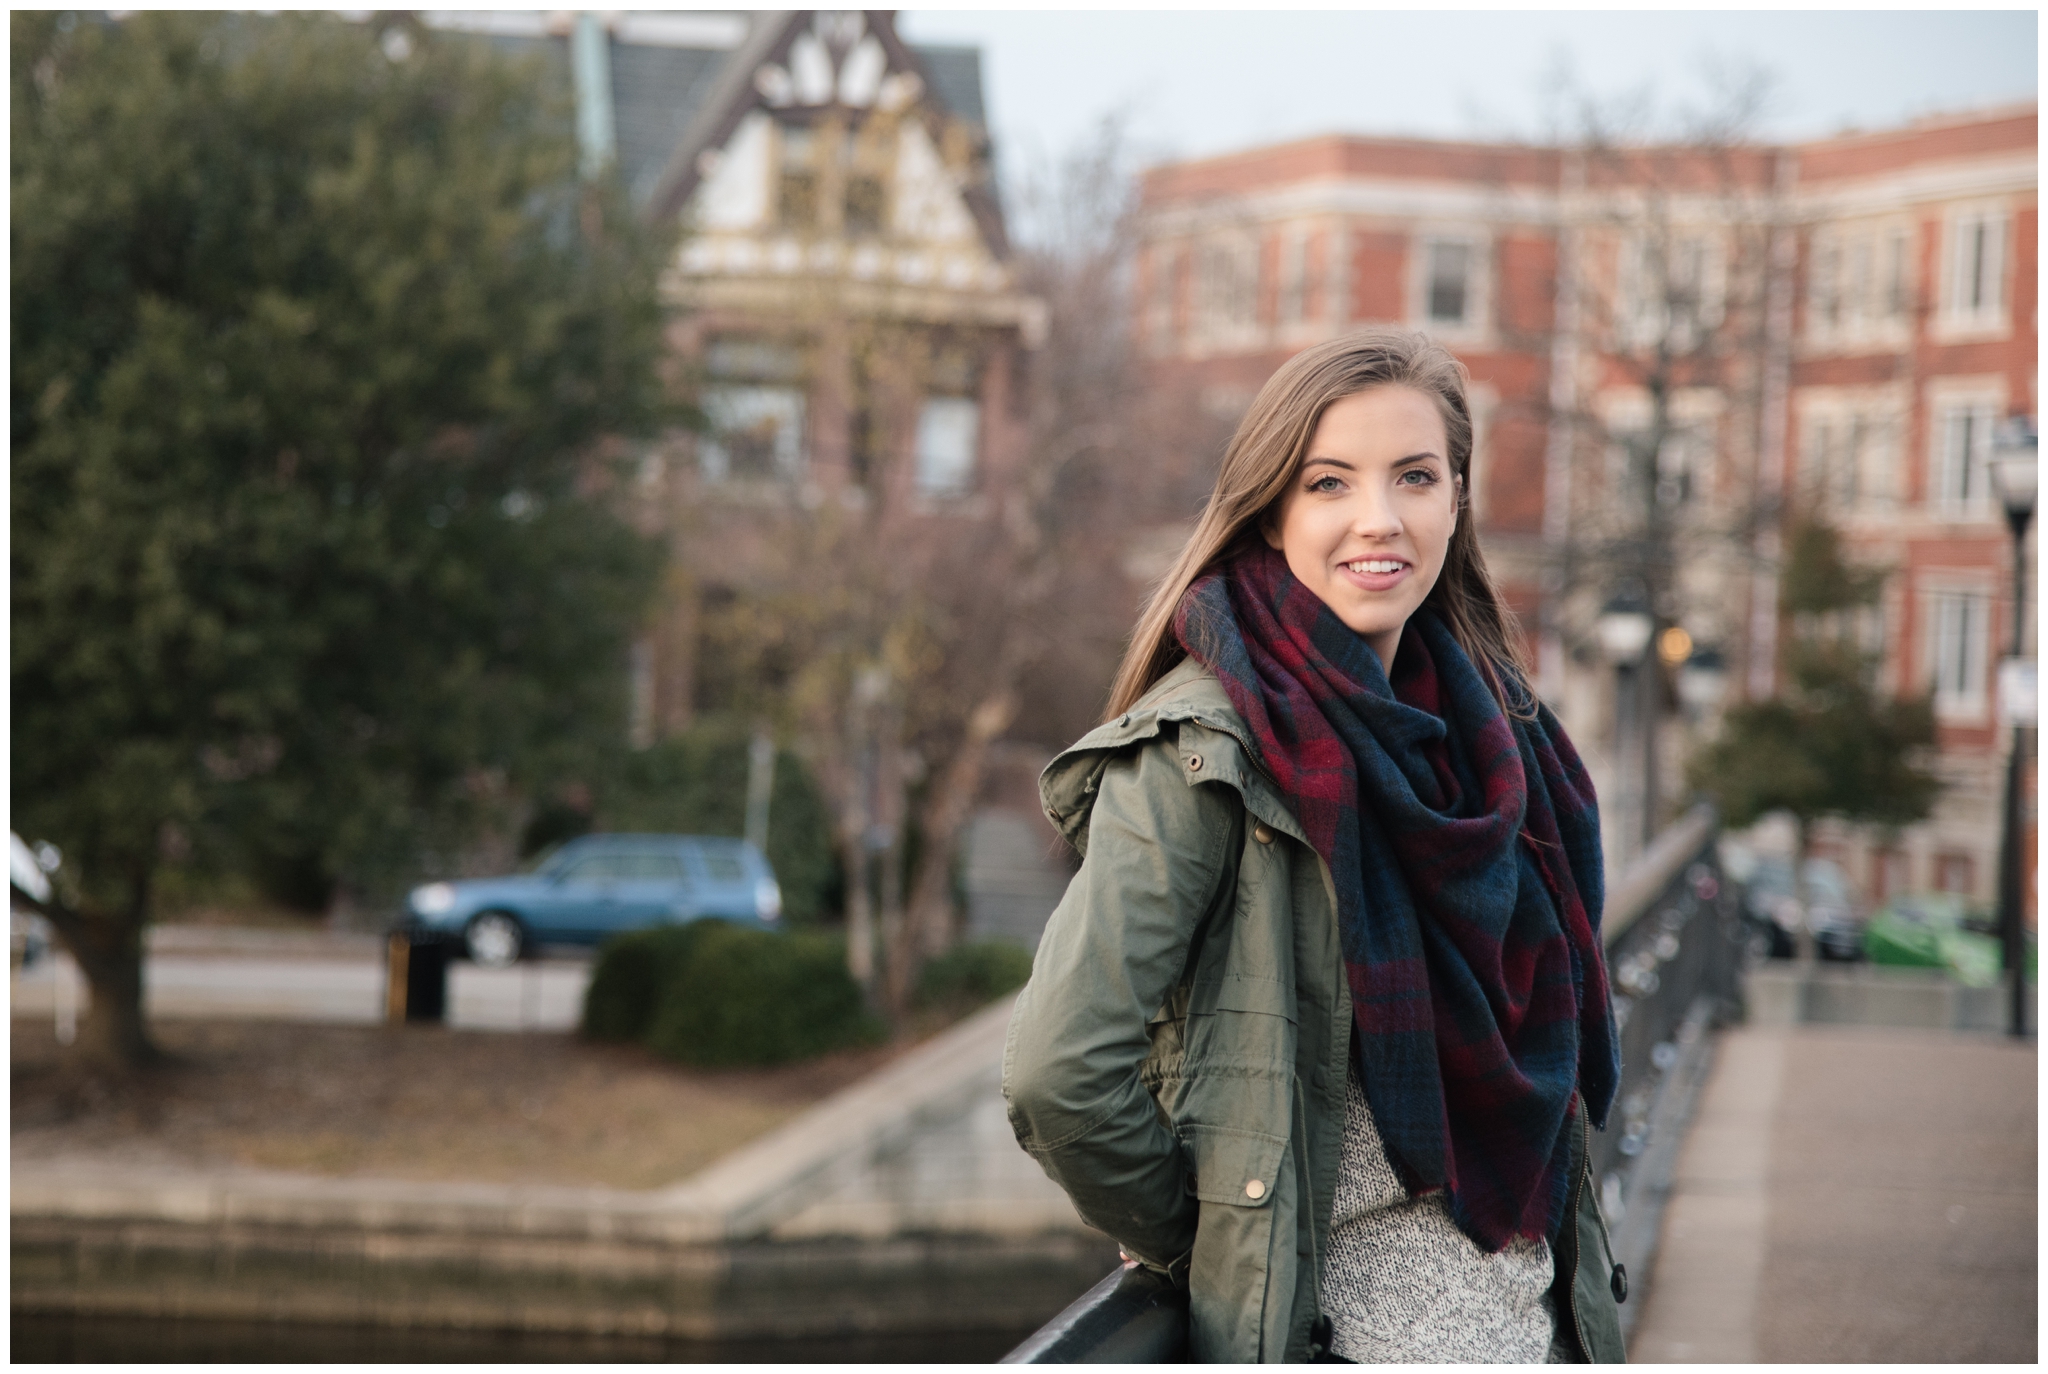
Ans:
[[[666,250],[477,39],[14,14],[12,78],[14,827],[133,1065],[166,860],[317,897],[623,733]]]

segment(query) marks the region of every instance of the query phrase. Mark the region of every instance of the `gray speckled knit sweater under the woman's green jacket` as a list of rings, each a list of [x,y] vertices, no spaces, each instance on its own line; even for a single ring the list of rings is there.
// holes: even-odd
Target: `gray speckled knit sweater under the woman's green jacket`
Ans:
[[[1323,1261],[1335,1354],[1358,1364],[1544,1364],[1552,1339],[1550,1247],[1489,1255],[1450,1220],[1442,1192],[1411,1198],[1386,1159],[1352,1065],[1343,1163]]]

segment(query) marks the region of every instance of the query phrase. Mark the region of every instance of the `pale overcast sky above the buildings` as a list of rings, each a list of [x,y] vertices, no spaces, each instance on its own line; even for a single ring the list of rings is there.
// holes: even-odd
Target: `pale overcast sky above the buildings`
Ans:
[[[1602,98],[1708,100],[1704,74],[1763,68],[1765,137],[1882,129],[2034,100],[2034,10],[1245,12],[905,10],[913,43],[981,47],[1006,170],[1126,111],[1147,160],[1313,133],[1540,137],[1569,72]]]

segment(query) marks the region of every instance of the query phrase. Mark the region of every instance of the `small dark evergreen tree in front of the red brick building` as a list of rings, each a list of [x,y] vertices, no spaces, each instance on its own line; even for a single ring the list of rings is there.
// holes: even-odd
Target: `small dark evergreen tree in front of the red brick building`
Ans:
[[[1931,696],[1878,690],[1882,655],[1866,641],[1884,569],[1855,567],[1823,520],[1792,526],[1780,600],[1792,627],[1784,688],[1741,702],[1692,762],[1692,782],[1722,819],[1749,825],[1774,811],[1798,825],[1798,864],[1821,817],[1876,825],[1923,819],[1942,790],[1921,764],[1935,743]]]

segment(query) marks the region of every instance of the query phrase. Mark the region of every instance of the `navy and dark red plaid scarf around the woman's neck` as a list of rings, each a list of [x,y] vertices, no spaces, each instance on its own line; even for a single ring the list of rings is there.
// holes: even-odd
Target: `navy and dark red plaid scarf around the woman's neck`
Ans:
[[[1403,1184],[1448,1190],[1487,1251],[1554,1239],[1573,1093],[1606,1126],[1620,1077],[1599,817],[1556,717],[1505,715],[1430,608],[1389,680],[1266,545],[1188,588],[1174,631],[1329,862],[1360,1081]]]

